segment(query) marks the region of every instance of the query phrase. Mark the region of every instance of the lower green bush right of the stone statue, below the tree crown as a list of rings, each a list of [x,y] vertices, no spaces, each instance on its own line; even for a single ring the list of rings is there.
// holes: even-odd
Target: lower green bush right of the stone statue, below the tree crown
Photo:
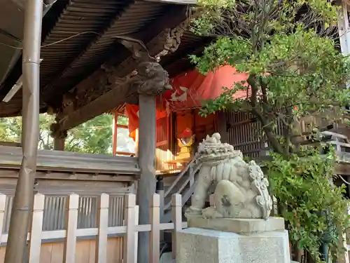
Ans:
[[[288,221],[290,241],[319,260],[321,242],[336,249],[337,228],[349,227],[345,189],[330,183],[335,153],[321,156],[316,149],[302,149],[288,160],[272,155],[266,163],[271,192],[280,204],[279,215]]]

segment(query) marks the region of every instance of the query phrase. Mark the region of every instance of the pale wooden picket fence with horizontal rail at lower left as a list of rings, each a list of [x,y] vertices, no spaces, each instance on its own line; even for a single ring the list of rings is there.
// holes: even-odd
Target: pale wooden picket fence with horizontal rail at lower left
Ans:
[[[139,225],[139,207],[136,205],[136,196],[127,194],[125,196],[125,221],[120,227],[108,227],[109,220],[109,195],[102,194],[99,196],[99,209],[97,213],[97,228],[78,229],[78,194],[68,196],[66,202],[66,220],[63,230],[43,231],[43,213],[44,213],[45,196],[36,194],[34,196],[33,215],[31,228],[28,233],[29,241],[29,263],[46,263],[41,259],[41,247],[44,240],[64,238],[63,262],[76,262],[76,241],[78,237],[96,236],[95,245],[95,263],[107,262],[107,240],[109,235],[123,234],[123,262],[137,262],[137,241],[138,232],[150,232],[150,253],[149,262],[160,262],[160,231],[173,229],[179,231],[187,227],[186,222],[181,218],[181,195],[172,196],[172,221],[173,223],[160,224],[160,196],[154,194],[150,205],[150,222],[151,224]],[[0,194],[0,227],[3,226],[4,212],[6,207],[6,195]],[[176,238],[176,235],[172,235]],[[6,243],[8,234],[0,234],[1,243]],[[176,245],[176,241],[172,242]],[[173,248],[173,251],[176,251]],[[44,260],[45,261],[45,260]]]

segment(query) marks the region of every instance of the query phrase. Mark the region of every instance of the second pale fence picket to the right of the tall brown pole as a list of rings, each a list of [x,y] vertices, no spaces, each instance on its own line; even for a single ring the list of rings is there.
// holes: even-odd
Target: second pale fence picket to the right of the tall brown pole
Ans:
[[[78,227],[78,194],[71,194],[67,201],[66,238],[63,248],[63,263],[74,263],[76,257],[76,229]]]

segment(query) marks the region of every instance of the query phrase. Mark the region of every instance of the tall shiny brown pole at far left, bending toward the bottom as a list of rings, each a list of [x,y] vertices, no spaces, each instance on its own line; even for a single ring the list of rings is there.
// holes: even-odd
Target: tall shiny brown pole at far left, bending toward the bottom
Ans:
[[[23,40],[23,159],[18,177],[10,229],[6,245],[5,263],[27,262],[27,232],[34,198],[34,179],[39,135],[39,67],[43,1],[27,0]]]

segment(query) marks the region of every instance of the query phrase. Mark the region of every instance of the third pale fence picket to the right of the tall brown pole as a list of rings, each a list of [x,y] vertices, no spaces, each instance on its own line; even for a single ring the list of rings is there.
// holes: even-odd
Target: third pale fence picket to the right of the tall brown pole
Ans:
[[[97,211],[97,227],[99,233],[96,240],[95,263],[107,262],[107,232],[109,222],[109,195],[99,196],[99,210]]]

